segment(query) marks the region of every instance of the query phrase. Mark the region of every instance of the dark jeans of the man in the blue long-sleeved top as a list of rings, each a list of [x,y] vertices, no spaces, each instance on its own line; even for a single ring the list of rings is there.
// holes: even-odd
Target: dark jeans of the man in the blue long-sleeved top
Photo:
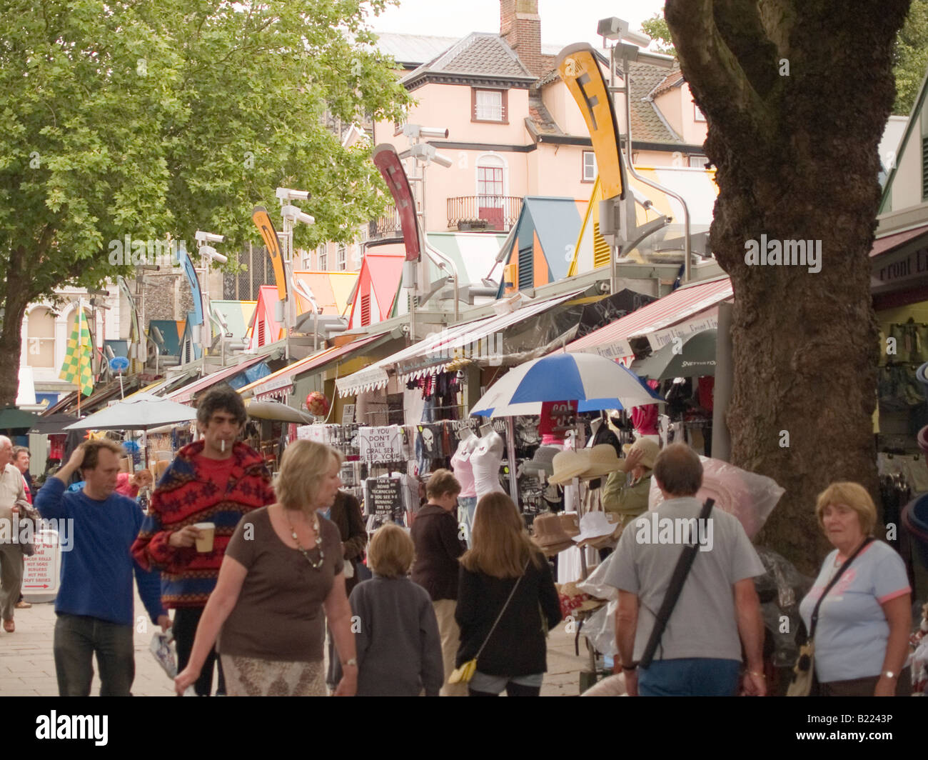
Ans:
[[[60,696],[90,696],[95,653],[100,669],[100,696],[132,696],[135,651],[131,625],[60,613],[55,623],[54,652]]]

